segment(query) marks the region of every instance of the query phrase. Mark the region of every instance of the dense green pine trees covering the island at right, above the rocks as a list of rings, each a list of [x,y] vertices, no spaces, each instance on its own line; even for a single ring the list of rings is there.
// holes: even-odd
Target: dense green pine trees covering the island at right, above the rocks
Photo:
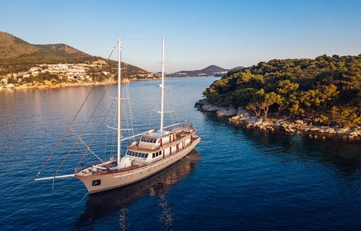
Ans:
[[[257,117],[360,125],[361,55],[261,62],[228,72],[203,94],[211,104],[243,106]]]

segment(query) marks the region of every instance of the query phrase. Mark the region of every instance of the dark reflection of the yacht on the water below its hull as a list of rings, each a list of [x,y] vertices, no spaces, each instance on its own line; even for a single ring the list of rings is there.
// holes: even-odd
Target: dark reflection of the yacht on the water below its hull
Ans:
[[[142,196],[159,196],[160,199],[171,189],[173,185],[187,177],[200,161],[200,152],[193,150],[181,161],[172,166],[161,170],[161,172],[152,175],[133,185],[112,189],[107,192],[91,194],[87,201],[86,210],[78,218],[75,227],[88,227],[97,220],[105,216],[114,216],[113,213],[121,211],[120,219],[126,219],[126,206],[133,203]],[[164,203],[164,201],[162,202]],[[161,206],[161,204],[159,205]]]

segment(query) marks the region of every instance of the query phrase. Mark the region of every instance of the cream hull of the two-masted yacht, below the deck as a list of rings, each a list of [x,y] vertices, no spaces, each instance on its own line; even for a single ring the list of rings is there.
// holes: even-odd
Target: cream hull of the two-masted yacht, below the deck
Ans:
[[[167,156],[160,161],[151,163],[147,166],[143,166],[140,168],[125,170],[118,173],[100,173],[94,175],[75,174],[74,177],[77,177],[84,183],[90,194],[114,189],[117,187],[123,187],[145,179],[146,177],[154,175],[160,170],[171,166],[173,163],[176,163],[177,161],[181,160],[181,158],[189,154],[190,151],[192,151],[199,142],[200,137],[195,139],[192,144],[190,144],[190,146],[185,147],[185,149],[178,151],[176,154],[171,154],[170,156]],[[94,180],[100,180],[98,181],[100,182],[100,184],[93,186]]]

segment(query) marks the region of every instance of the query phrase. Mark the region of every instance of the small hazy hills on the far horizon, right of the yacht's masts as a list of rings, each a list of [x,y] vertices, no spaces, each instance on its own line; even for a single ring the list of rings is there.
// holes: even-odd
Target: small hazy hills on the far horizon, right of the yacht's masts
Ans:
[[[181,70],[176,73],[167,74],[169,77],[197,77],[197,76],[222,76],[230,70],[242,69],[243,67],[237,67],[232,69],[224,69],[217,65],[209,65],[202,70]]]

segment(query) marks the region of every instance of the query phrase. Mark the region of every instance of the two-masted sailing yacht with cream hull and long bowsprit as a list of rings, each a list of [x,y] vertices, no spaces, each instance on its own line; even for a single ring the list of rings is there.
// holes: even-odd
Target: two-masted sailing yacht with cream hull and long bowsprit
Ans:
[[[190,153],[200,142],[197,130],[188,121],[164,127],[164,39],[161,61],[161,110],[159,130],[149,130],[131,137],[122,137],[121,131],[121,39],[118,41],[118,127],[117,156],[101,163],[94,163],[75,170],[71,175],[38,177],[35,180],[55,180],[65,177],[78,178],[90,194],[130,185],[158,173]],[[121,142],[137,138],[121,155]]]

